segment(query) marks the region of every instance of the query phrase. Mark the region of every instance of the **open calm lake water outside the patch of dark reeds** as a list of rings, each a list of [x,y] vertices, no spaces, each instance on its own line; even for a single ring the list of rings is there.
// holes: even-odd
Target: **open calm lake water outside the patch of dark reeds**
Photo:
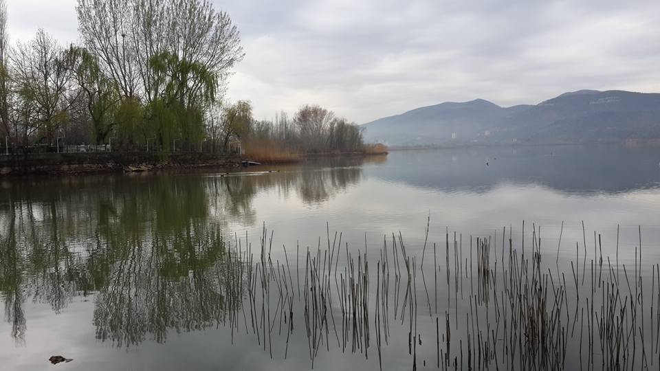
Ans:
[[[467,270],[470,238],[491,237],[492,254],[499,256],[503,232],[519,248],[523,234],[529,248],[532,233],[540,233],[541,253],[563,262],[569,275],[570,260],[588,267],[601,250],[614,259],[618,233],[619,265],[632,269],[641,240],[639,275],[654,277],[651,267],[660,262],[659,162],[660,150],[549,146],[401,151],[251,168],[248,174],[0,179],[0,368],[42,370],[54,367],[48,357],[63,355],[74,358],[57,366],[63,370],[307,370],[304,311],[293,313],[287,336],[274,291],[290,289],[292,302],[300,303],[296,286],[305,291],[307,249],[314,258],[320,251],[322,262],[329,240],[332,245],[339,238],[335,232],[341,233],[342,254],[333,254],[330,267],[339,271],[349,252],[357,262],[360,251],[375,276],[384,236],[391,244],[393,233],[398,240],[400,232],[416,262],[426,254],[424,283],[433,289],[424,290],[421,281],[415,286],[419,310],[426,311],[419,313],[416,357],[418,368],[423,362],[435,368],[436,319],[442,329],[445,312],[460,314],[463,304],[452,302],[445,278],[435,289],[441,279],[433,274],[432,243],[441,273],[449,256],[448,266],[455,260],[463,275],[456,282],[470,284],[457,268]],[[252,330],[251,310],[241,307],[235,322],[227,319],[228,288],[250,283],[225,265],[228,251],[247,265],[249,256],[241,254],[248,247],[259,260],[264,226],[272,266],[284,272],[288,259],[287,270],[294,272],[283,273],[287,286],[272,284],[267,345]],[[465,257],[453,251],[445,256],[446,233],[453,240],[454,231]],[[594,232],[601,240],[596,254]],[[375,286],[369,289],[373,303]],[[340,321],[340,300],[329,307]],[[367,321],[371,327],[374,318]],[[393,322],[400,328],[391,328],[382,344],[383,369],[410,369],[408,318]],[[456,322],[455,339],[463,324]],[[322,337],[315,369],[380,369],[375,335],[368,348],[353,352],[342,349],[341,333],[329,333],[329,341]]]

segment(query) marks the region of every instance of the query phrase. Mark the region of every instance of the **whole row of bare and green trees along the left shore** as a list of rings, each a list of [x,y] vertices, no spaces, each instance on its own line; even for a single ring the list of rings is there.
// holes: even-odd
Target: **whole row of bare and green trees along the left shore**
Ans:
[[[320,106],[257,121],[250,102],[228,103],[243,47],[208,0],[78,0],[76,12],[80,45],[45,30],[12,45],[0,0],[0,146],[224,151],[236,137],[299,152],[363,146],[357,125]]]

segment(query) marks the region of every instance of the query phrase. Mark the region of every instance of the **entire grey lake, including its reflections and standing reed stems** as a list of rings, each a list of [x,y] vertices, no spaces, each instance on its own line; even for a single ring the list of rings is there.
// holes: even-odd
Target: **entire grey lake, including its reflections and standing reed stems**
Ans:
[[[520,146],[0,179],[0,364],[657,369],[659,164]]]

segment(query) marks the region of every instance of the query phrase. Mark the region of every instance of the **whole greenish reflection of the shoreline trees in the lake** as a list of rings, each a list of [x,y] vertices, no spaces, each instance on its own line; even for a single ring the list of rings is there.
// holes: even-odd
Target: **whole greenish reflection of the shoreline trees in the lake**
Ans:
[[[11,335],[25,343],[26,300],[59,313],[87,295],[94,296],[97,339],[116,346],[217,326],[230,316],[226,295],[242,295],[236,286],[245,285],[240,254],[225,239],[227,221],[254,225],[259,192],[322,203],[361,175],[349,166],[5,184],[0,295]]]

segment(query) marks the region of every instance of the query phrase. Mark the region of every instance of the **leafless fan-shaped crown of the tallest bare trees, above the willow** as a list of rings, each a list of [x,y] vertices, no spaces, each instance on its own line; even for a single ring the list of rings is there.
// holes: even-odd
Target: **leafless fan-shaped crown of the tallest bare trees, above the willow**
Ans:
[[[161,93],[149,65],[159,54],[212,71],[220,92],[243,58],[238,29],[208,0],[78,0],[76,9],[85,46],[99,56],[124,95],[147,103]]]

